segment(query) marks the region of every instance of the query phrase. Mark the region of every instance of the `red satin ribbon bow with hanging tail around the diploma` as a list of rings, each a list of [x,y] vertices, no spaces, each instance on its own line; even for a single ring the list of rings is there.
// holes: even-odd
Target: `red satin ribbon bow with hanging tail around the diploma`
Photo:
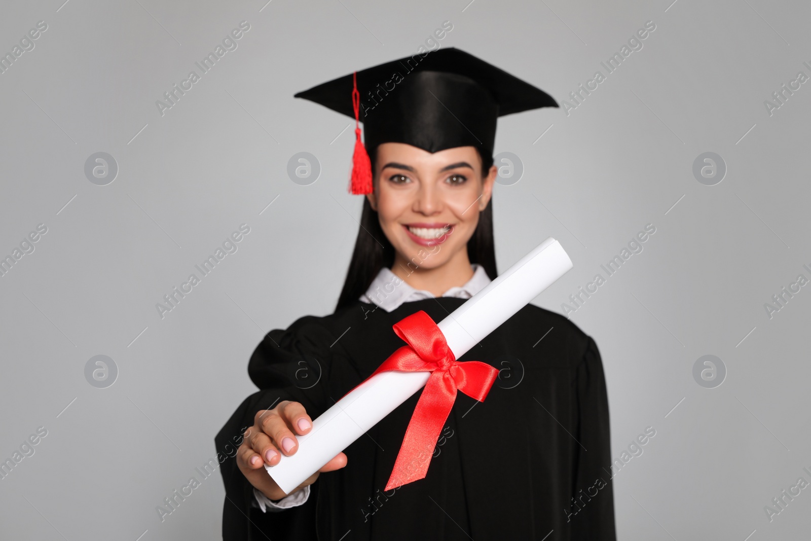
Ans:
[[[387,491],[425,477],[457,390],[483,401],[499,373],[487,363],[457,361],[440,328],[422,310],[398,321],[393,328],[408,346],[391,354],[369,377],[388,370],[431,371],[431,376],[405,430],[384,489]]]

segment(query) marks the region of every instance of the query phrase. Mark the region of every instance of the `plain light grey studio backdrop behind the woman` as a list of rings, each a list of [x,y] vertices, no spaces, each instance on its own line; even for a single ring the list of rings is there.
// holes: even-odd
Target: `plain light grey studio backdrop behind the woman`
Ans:
[[[292,96],[414,54],[445,20],[442,46],[558,101],[654,21],[568,116],[500,120],[496,152],[524,173],[495,190],[499,268],[558,238],[575,268],[534,303],[562,311],[654,224],[572,314],[603,355],[612,455],[657,431],[614,479],[618,535],[808,535],[809,489],[772,522],[763,509],[811,481],[811,287],[771,319],[763,306],[811,277],[811,88],[771,116],[763,105],[811,75],[807,4],[62,1],[0,16],[2,52],[48,24],[0,75],[0,253],[48,227],[0,277],[0,457],[48,431],[0,480],[2,539],[219,538],[219,472],[164,522],[155,508],[215,457],[214,434],[255,390],[247,360],[264,333],[333,310],[358,229],[348,119]],[[155,101],[242,20],[238,49],[161,116]],[[84,176],[95,152],[118,162],[109,185]],[[297,152],[318,158],[317,182],[287,177]],[[723,182],[693,177],[702,152],[723,157]],[[155,304],[242,223],[238,251],[161,320]],[[84,376],[98,354],[118,367],[105,389]],[[693,380],[705,354],[727,369],[714,389]]]

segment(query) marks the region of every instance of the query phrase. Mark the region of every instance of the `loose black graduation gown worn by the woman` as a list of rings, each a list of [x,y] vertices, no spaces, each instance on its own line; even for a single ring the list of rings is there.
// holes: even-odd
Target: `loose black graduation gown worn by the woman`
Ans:
[[[358,301],[271,331],[248,365],[261,390],[222,428],[217,451],[277,400],[299,401],[315,419],[404,344],[393,324],[419,310],[439,322],[463,302],[386,312]],[[320,474],[304,505],[262,513],[234,458],[225,460],[223,539],[616,539],[594,340],[529,304],[458,360],[489,363],[500,378],[483,402],[457,393],[425,479],[384,492],[420,390],[345,449],[347,466]]]

